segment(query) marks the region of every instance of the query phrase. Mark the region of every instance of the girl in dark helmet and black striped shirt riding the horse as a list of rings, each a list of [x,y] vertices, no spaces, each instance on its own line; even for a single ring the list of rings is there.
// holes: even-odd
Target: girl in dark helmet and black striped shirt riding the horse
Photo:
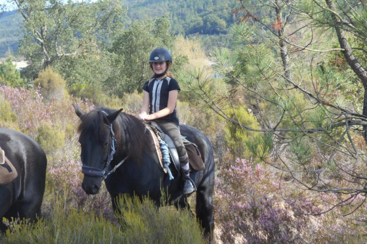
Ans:
[[[143,86],[143,105],[139,117],[156,122],[172,139],[185,178],[182,192],[190,194],[195,188],[190,179],[189,157],[182,142],[176,115],[177,96],[181,89],[172,73],[168,71],[172,66],[171,53],[166,48],[156,48],[150,53],[149,64],[154,75]]]

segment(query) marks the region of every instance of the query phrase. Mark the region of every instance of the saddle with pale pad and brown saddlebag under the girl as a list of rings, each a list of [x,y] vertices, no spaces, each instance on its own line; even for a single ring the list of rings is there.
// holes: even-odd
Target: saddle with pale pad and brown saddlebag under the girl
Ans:
[[[155,122],[151,122],[150,125],[146,124],[146,127],[148,131],[150,131],[150,134],[153,137],[153,140],[155,142],[156,151],[158,154],[158,158],[159,158],[160,164],[164,172],[167,173],[167,169],[164,168],[163,162],[162,162],[163,156],[162,156],[162,153],[159,147],[160,139],[167,143],[168,149],[170,151],[171,162],[173,162],[175,170],[179,174],[180,162],[179,162],[177,149],[172,139],[167,134],[164,134],[164,132],[159,127],[159,125],[157,125]],[[186,151],[189,157],[190,172],[203,170],[205,168],[205,164],[203,162],[203,159],[201,158],[201,155],[200,155],[199,149],[197,149],[197,146],[185,138],[183,138],[182,140],[183,140],[183,144],[186,148]]]

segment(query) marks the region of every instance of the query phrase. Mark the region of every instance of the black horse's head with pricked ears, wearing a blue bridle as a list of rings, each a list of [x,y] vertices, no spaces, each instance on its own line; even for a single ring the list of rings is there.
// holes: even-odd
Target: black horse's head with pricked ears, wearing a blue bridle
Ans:
[[[84,173],[82,187],[87,194],[97,194],[115,152],[112,123],[122,109],[110,113],[95,109],[85,113],[78,105],[73,106],[76,115],[81,119],[78,132]]]

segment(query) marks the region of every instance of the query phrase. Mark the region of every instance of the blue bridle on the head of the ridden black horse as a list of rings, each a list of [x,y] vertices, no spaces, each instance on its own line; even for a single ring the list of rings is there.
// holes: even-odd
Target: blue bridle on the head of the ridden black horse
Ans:
[[[106,116],[108,115],[107,112],[105,112],[104,110],[101,110],[102,113],[104,113]],[[113,167],[112,170],[108,170],[110,163],[113,159],[113,154],[115,154],[116,150],[115,150],[115,143],[116,143],[116,139],[115,139],[115,133],[113,132],[112,129],[112,122],[110,123],[110,140],[109,140],[109,150],[108,150],[108,156],[105,160],[105,167],[103,168],[103,170],[99,169],[99,168],[95,168],[95,167],[91,167],[91,166],[87,166],[87,165],[82,165],[81,166],[81,172],[85,175],[88,176],[95,176],[95,177],[103,177],[103,179],[106,179],[107,176],[110,173],[113,173],[116,171],[117,168],[119,168],[119,166],[121,164],[123,164],[123,162],[126,160],[127,156],[121,160],[121,162],[119,164],[117,164],[115,167]],[[82,162],[83,163],[83,162]]]

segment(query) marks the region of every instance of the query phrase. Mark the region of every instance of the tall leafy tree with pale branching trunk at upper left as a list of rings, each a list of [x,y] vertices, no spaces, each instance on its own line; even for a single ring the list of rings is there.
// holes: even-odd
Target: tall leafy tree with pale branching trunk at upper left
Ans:
[[[25,72],[29,78],[49,65],[62,68],[61,74],[70,72],[75,67],[68,61],[98,56],[98,50],[120,29],[124,13],[117,0],[9,2],[17,5],[24,19],[25,35],[18,52],[29,64]]]

